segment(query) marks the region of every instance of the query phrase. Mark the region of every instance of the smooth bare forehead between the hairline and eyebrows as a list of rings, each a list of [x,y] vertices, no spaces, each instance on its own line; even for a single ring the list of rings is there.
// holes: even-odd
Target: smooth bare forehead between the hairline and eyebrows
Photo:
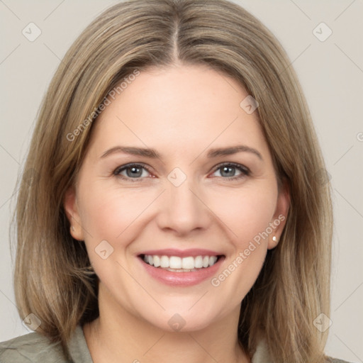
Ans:
[[[247,91],[232,77],[201,65],[140,72],[97,119],[91,143],[97,152],[119,143],[169,153],[230,144],[267,152],[257,113],[240,104]],[[114,144],[114,145],[113,145]]]

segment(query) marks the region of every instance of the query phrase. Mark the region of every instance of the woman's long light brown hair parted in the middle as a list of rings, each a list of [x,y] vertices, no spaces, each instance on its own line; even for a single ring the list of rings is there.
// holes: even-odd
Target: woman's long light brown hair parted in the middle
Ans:
[[[121,2],[69,48],[40,107],[14,214],[21,317],[38,316],[38,331],[67,352],[77,324],[99,315],[97,277],[84,243],[69,233],[65,192],[110,91],[135,70],[173,65],[213,67],[256,99],[277,179],[289,188],[279,244],[241,303],[240,346],[252,355],[262,332],[273,362],[325,362],[327,332],[313,325],[320,313],[330,315],[333,216],[325,164],[286,52],[257,18],[226,0]]]

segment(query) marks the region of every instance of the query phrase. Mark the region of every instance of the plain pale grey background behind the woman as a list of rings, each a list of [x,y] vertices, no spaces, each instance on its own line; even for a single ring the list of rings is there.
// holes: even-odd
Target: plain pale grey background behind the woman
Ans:
[[[0,0],[0,341],[28,333],[14,303],[8,235],[16,179],[40,101],[77,35],[116,2]],[[362,0],[235,2],[280,40],[311,108],[331,177],[335,211],[332,325],[326,352],[363,362]],[[22,33],[31,22],[41,31],[33,41]]]

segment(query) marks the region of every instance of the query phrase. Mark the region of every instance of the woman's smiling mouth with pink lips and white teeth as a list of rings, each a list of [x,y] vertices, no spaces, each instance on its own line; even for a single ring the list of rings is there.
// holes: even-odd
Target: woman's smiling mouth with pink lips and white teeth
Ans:
[[[207,250],[160,250],[138,255],[146,272],[171,286],[191,286],[213,277],[225,255]]]

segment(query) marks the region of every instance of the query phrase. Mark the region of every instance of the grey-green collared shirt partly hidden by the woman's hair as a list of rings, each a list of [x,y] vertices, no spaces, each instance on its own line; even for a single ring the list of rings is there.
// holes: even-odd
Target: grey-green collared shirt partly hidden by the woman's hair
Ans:
[[[69,354],[65,358],[57,343],[50,343],[39,333],[30,333],[0,343],[0,363],[93,363],[91,354],[80,325],[69,340]],[[262,340],[252,357],[252,363],[271,363],[267,345]],[[328,358],[327,363],[348,363],[340,359]]]

